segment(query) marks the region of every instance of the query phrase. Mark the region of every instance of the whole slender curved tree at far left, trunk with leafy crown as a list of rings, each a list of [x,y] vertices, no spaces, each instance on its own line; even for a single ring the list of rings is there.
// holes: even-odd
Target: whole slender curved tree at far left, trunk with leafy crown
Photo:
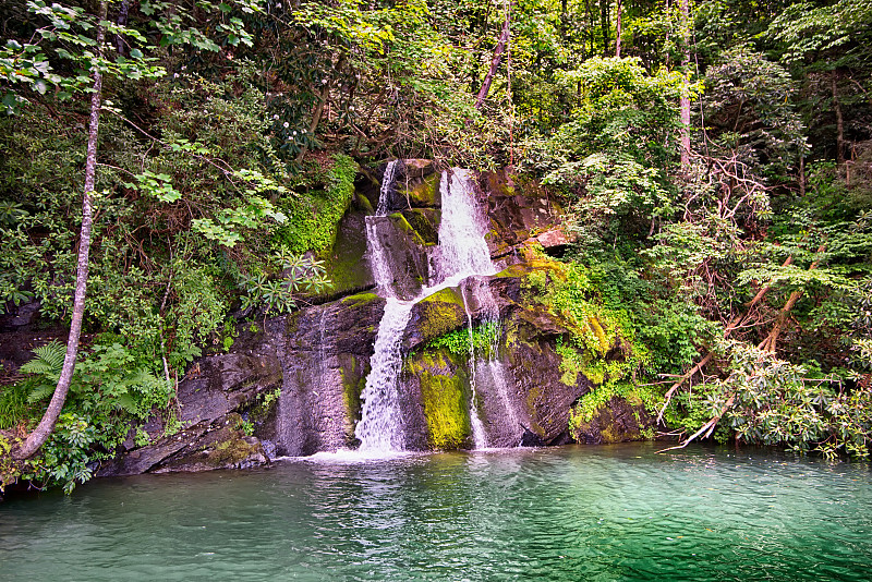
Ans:
[[[89,99],[89,122],[87,137],[87,153],[84,172],[84,192],[82,202],[82,225],[78,235],[78,256],[76,263],[75,291],[70,322],[70,332],[66,341],[66,352],[61,368],[58,384],[52,398],[40,422],[25,438],[21,446],[14,447],[12,457],[25,460],[33,457],[51,435],[55,425],[63,409],[66,395],[75,372],[75,362],[78,353],[78,342],[85,316],[85,299],[87,295],[89,252],[95,203],[95,180],[97,174],[97,147],[99,137],[100,112],[104,107],[104,78],[106,75],[121,80],[157,78],[166,74],[162,66],[154,64],[155,58],[147,58],[136,46],[145,46],[145,37],[134,28],[123,24],[128,17],[129,4],[121,7],[118,23],[112,23],[108,17],[109,0],[100,0],[97,14],[88,14],[81,7],[63,7],[58,3],[47,5],[44,0],[28,0],[27,11],[41,16],[47,24],[38,27],[33,37],[41,43],[50,44],[58,60],[71,61],[80,71],[74,75],[62,76],[53,72],[51,61],[45,56],[43,47],[37,44],[21,45],[14,40],[7,43],[0,51],[0,65],[5,76],[8,93],[3,96],[3,104],[9,113],[15,113],[17,108],[26,104],[21,86],[29,88],[35,96],[46,94],[47,84],[58,87],[59,98],[70,98],[76,93],[87,93]],[[246,4],[247,5],[247,4]],[[180,19],[178,14],[170,14],[166,21],[158,20],[157,26],[165,33],[178,29]],[[226,26],[229,36],[245,39],[241,21],[233,26]],[[93,31],[94,37],[86,34]],[[107,41],[107,32],[114,35],[116,45]],[[125,43],[134,45],[125,57]],[[168,40],[172,43],[170,38]],[[202,34],[189,28],[178,43],[199,45],[207,50],[217,50],[217,45],[211,45],[204,39]],[[145,47],[144,47],[145,48]],[[118,54],[111,54],[118,49]],[[89,77],[84,74],[89,71]],[[87,87],[86,83],[90,83]],[[26,92],[25,88],[25,92]]]

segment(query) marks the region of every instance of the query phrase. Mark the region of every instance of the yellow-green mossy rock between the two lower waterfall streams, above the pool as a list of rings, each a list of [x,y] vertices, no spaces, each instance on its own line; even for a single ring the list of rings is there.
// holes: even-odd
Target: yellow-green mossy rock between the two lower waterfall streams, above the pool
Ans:
[[[427,442],[432,449],[448,450],[470,446],[469,379],[459,374],[445,350],[420,353],[408,363],[408,373],[421,385],[421,403],[427,421]]]

